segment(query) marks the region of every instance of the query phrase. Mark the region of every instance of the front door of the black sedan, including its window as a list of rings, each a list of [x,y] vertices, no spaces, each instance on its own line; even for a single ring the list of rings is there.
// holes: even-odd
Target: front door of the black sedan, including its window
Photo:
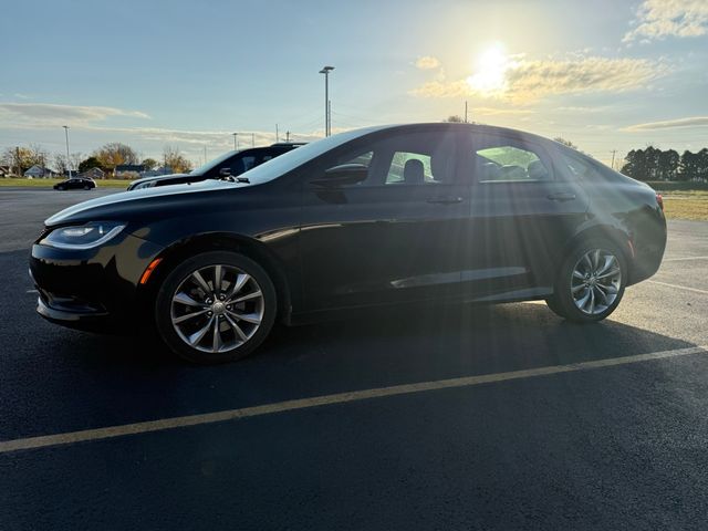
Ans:
[[[469,186],[449,129],[367,135],[303,176],[301,257],[309,310],[452,296]],[[364,165],[363,183],[322,186]]]

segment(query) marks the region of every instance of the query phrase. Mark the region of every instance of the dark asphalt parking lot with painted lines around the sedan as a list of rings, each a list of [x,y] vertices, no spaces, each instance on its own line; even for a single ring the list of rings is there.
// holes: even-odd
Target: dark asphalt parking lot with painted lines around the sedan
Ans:
[[[0,189],[0,529],[705,528],[708,222],[595,325],[409,308],[197,367],[35,315],[42,220],[110,192]]]

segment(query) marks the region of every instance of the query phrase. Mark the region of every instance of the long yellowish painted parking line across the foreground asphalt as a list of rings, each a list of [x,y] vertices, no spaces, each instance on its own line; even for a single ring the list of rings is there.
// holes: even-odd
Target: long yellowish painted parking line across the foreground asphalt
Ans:
[[[665,360],[669,357],[687,356],[690,354],[708,354],[707,346],[691,346],[688,348],[676,348],[671,351],[653,352],[649,354],[637,354],[634,356],[613,357],[595,360],[592,362],[572,363],[569,365],[550,365],[538,368],[527,368],[523,371],[511,371],[508,373],[485,374],[480,376],[467,376],[462,378],[439,379],[435,382],[420,382],[417,384],[395,385],[392,387],[379,387],[374,389],[353,391],[350,393],[339,393],[335,395],[314,396],[312,398],[300,398],[295,400],[280,402],[277,404],[264,404],[262,406],[244,407],[241,409],[227,409],[222,412],[206,413],[201,415],[189,415],[186,417],[164,418],[145,423],[124,424],[121,426],[110,426],[107,428],[85,429],[82,431],[70,431],[65,434],[44,435],[40,437],[29,437],[25,439],[0,441],[0,454],[9,451],[29,450],[44,448],[48,446],[69,445],[91,440],[102,440],[125,435],[147,434],[150,431],[163,431],[166,429],[184,428],[187,426],[199,426],[204,424],[223,423],[239,418],[257,417],[273,413],[293,412],[308,409],[310,407],[331,406],[335,404],[347,404],[351,402],[367,400],[372,398],[383,398],[387,396],[407,395],[412,393],[423,393],[427,391],[449,389],[455,387],[471,387],[475,385],[507,382],[511,379],[534,378],[538,376],[549,376],[560,373],[573,373],[589,371],[593,368],[612,367],[627,365],[632,363],[650,362],[654,360]]]

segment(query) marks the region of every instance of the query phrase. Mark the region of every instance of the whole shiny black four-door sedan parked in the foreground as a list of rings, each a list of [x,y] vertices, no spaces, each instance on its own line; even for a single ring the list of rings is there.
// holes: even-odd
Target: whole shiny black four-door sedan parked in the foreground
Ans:
[[[40,315],[94,331],[150,323],[196,363],[250,354],[277,321],[373,306],[545,300],[593,323],[666,246],[649,186],[509,128],[348,131],[241,177],[49,218],[30,258]]]

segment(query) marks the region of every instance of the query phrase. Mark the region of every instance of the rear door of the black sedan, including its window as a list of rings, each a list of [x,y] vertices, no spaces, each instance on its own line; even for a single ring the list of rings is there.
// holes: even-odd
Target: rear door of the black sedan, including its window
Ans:
[[[465,292],[488,300],[548,294],[562,249],[585,219],[584,190],[524,134],[475,131],[464,152],[473,177]]]

